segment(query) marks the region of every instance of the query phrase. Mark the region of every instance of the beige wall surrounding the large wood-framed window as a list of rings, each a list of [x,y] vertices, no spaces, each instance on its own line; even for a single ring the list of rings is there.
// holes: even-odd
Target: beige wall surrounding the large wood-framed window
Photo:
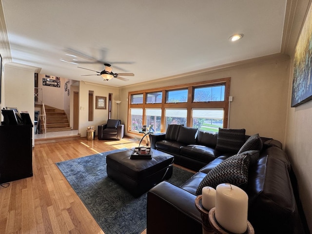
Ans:
[[[277,59],[277,60],[276,60]],[[289,58],[281,55],[233,64],[203,74],[176,77],[120,89],[120,117],[127,125],[128,92],[176,84],[231,77],[229,128],[245,128],[247,135],[259,133],[284,142]],[[130,135],[127,133],[127,135]]]

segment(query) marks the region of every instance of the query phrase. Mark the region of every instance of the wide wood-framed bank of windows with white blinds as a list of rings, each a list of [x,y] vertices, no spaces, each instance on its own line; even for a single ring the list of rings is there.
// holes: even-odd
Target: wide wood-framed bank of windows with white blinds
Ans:
[[[169,124],[183,124],[203,131],[226,128],[229,118],[231,78],[137,90],[128,93],[128,129],[140,135],[143,125],[166,132]]]

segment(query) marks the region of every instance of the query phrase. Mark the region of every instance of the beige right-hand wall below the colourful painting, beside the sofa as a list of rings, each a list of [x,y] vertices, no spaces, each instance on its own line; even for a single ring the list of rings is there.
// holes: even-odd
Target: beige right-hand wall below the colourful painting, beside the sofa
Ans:
[[[285,151],[292,162],[302,206],[312,231],[312,101],[291,107],[292,72],[289,79]]]

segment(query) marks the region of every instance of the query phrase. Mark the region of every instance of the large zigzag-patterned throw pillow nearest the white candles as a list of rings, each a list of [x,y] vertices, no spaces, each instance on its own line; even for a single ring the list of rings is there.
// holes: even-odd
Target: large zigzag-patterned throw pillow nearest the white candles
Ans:
[[[205,186],[215,188],[222,183],[244,188],[248,182],[249,160],[248,153],[228,157],[207,173],[197,187],[196,195],[200,195]]]

